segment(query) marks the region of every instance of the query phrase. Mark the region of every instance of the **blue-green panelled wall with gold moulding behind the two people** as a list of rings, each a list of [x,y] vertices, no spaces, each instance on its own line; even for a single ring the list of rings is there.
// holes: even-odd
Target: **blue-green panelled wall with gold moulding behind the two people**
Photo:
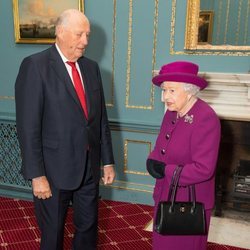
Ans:
[[[187,0],[84,1],[92,24],[86,54],[101,68],[116,160],[115,183],[101,186],[104,198],[152,204],[154,180],[145,161],[164,112],[160,89],[151,85],[153,70],[174,60],[191,60],[209,72],[250,69],[242,53],[185,52],[186,5]],[[14,83],[22,59],[49,45],[15,43],[13,18],[12,1],[1,0],[0,191],[30,198],[30,183],[19,173]]]

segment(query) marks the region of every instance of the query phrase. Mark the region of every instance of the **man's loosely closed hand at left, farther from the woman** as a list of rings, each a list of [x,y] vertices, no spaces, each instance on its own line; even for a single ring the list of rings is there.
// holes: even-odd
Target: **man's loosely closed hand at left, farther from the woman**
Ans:
[[[33,194],[38,199],[47,199],[52,196],[49,182],[46,176],[40,176],[32,179]]]

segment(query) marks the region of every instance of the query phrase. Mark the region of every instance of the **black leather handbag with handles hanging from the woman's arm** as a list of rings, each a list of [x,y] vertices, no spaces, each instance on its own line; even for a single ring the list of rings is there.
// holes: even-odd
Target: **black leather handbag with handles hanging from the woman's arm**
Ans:
[[[195,187],[190,185],[190,201],[175,201],[182,166],[173,174],[167,201],[160,201],[154,230],[162,235],[205,235],[206,217],[203,203],[196,202]]]

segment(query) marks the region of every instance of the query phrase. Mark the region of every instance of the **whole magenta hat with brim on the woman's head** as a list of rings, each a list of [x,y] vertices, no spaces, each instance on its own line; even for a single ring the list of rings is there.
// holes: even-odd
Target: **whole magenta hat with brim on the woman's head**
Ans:
[[[184,82],[198,86],[200,89],[207,87],[207,81],[198,76],[199,66],[192,62],[177,61],[165,64],[161,67],[159,75],[152,81],[160,86],[162,82]]]

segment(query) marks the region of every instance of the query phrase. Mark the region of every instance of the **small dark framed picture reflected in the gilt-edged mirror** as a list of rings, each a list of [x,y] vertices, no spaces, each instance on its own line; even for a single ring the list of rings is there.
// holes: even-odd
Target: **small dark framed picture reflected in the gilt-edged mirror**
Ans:
[[[198,44],[212,43],[213,11],[200,11]]]

